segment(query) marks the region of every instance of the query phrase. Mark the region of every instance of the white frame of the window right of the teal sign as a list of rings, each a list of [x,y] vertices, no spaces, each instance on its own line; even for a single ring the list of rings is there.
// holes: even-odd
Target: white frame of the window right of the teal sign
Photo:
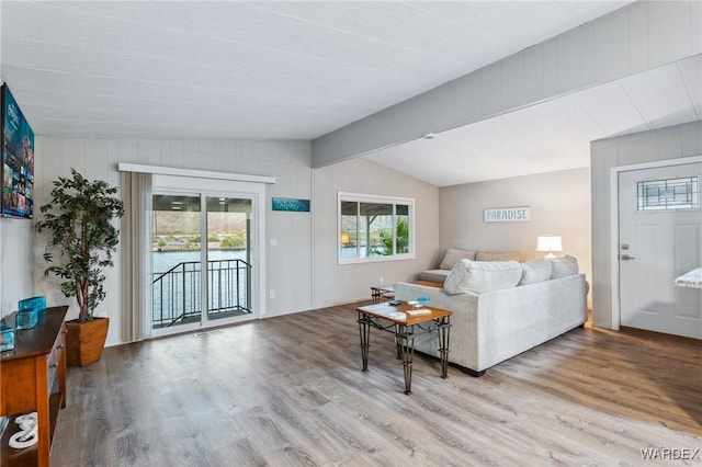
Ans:
[[[409,217],[409,242],[408,248],[409,251],[407,253],[399,254],[388,254],[381,257],[341,257],[341,249],[339,246],[341,244],[341,202],[354,202],[354,203],[380,203],[380,204],[392,204],[393,205],[393,216],[395,217],[396,205],[406,205],[408,206],[408,217]],[[393,225],[397,225],[397,220],[393,219]],[[395,232],[395,228],[393,229]],[[398,197],[398,196],[384,196],[384,195],[372,195],[372,194],[362,194],[362,193],[349,193],[349,192],[338,192],[337,193],[337,261],[338,264],[358,264],[358,263],[375,263],[383,261],[401,261],[401,260],[414,260],[416,258],[415,253],[415,198],[412,197]]]

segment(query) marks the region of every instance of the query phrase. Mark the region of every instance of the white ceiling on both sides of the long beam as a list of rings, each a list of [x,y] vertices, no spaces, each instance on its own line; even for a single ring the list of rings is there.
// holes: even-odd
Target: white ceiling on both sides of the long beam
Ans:
[[[0,70],[37,134],[314,139],[627,3],[2,0]],[[700,119],[699,75],[673,65],[369,159],[440,186],[587,166],[591,139]]]

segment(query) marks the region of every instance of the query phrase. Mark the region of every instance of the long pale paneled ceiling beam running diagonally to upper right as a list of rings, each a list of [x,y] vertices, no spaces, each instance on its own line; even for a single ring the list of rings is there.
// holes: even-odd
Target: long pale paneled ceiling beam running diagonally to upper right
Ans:
[[[638,1],[313,140],[313,168],[702,53],[702,2]]]

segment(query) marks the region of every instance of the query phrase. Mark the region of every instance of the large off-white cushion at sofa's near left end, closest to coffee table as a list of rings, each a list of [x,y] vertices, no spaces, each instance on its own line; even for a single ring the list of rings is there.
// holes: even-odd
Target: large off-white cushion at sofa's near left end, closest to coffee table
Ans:
[[[443,283],[449,294],[483,293],[513,287],[522,277],[522,266],[517,261],[461,260],[453,266]]]

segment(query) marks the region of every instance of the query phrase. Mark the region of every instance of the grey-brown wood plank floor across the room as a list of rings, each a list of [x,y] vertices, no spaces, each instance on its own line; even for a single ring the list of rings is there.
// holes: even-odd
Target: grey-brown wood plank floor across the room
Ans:
[[[636,466],[702,447],[699,343],[586,327],[482,378],[418,357],[406,396],[389,334],[360,371],[353,309],[106,349],[68,371],[52,465]]]

